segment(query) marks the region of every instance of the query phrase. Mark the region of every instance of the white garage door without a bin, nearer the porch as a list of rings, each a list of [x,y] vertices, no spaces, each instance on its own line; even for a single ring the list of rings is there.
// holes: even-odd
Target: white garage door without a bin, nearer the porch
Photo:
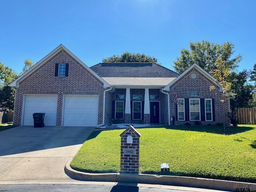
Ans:
[[[64,96],[63,126],[96,126],[98,96]]]

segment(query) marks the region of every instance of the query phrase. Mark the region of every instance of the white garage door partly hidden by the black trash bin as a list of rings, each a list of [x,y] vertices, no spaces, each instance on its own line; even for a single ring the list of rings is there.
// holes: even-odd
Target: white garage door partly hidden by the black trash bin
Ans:
[[[23,125],[34,125],[33,113],[45,113],[44,125],[56,126],[56,95],[25,95]]]

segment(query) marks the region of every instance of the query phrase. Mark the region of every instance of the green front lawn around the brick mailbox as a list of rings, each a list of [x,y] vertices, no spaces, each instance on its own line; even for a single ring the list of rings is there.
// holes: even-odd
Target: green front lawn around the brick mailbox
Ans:
[[[256,182],[256,126],[166,126],[140,132],[140,173]],[[122,130],[99,130],[84,142],[70,166],[92,173],[120,172]]]

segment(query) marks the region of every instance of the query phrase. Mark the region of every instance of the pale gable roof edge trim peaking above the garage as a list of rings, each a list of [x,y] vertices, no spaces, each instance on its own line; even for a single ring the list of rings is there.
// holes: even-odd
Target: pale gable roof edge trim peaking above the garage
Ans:
[[[52,58],[54,55],[56,55],[61,50],[65,50],[70,56],[72,56],[76,61],[78,61],[80,64],[82,64],[88,71],[90,71],[96,78],[98,78],[103,84],[104,87],[110,87],[110,85],[102,79],[98,74],[96,74],[93,70],[91,70],[84,62],[82,62],[80,59],[78,59],[70,50],[68,50],[64,45],[60,44],[57,48],[55,48],[52,52],[50,52],[48,55],[46,55],[44,58],[42,58],[39,62],[34,64],[29,70],[24,72],[21,76],[19,76],[16,80],[14,80],[12,83],[9,84],[10,87],[19,87],[19,83],[24,80],[27,76],[29,76],[32,72],[34,72],[36,69],[38,69],[42,64],[47,62],[50,58]]]

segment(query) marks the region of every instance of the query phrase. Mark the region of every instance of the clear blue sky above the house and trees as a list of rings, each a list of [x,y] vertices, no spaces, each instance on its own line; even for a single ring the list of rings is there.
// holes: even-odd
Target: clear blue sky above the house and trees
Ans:
[[[238,70],[256,63],[254,0],[2,0],[0,60],[21,72],[63,44],[86,65],[125,51],[173,69],[189,42],[231,42]]]

